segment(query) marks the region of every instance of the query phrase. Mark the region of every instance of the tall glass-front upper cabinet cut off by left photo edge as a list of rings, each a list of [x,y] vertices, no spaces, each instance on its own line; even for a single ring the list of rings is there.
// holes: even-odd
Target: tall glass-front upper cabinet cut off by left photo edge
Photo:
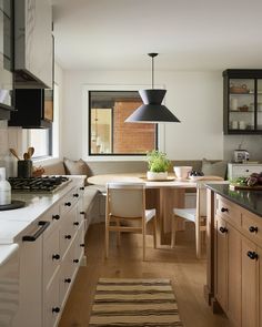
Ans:
[[[0,1],[0,119],[13,110],[13,2]]]

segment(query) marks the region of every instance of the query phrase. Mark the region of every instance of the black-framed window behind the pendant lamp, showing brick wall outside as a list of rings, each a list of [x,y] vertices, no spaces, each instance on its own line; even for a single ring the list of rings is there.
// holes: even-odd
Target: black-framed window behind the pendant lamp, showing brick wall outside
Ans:
[[[125,123],[142,101],[137,91],[89,91],[89,154],[138,155],[157,146],[157,126]]]

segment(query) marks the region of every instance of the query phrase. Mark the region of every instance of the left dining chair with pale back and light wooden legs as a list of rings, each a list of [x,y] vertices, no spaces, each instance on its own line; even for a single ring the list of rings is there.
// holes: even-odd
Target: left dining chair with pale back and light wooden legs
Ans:
[[[109,256],[110,232],[118,233],[118,245],[121,232],[141,233],[143,260],[145,259],[147,224],[153,219],[153,244],[157,247],[155,210],[145,210],[144,183],[108,183],[105,213],[105,258]],[[128,226],[123,222],[138,221],[138,226]]]

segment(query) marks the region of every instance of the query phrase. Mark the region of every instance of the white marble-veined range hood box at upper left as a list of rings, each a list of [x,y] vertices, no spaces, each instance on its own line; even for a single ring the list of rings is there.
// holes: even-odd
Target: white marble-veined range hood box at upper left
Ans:
[[[16,88],[52,89],[52,9],[49,0],[14,0]]]

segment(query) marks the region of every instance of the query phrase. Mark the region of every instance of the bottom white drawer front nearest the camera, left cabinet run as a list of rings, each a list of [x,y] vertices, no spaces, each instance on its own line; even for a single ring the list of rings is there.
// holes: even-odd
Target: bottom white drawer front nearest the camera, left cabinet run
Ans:
[[[57,326],[61,315],[61,303],[59,299],[59,274],[44,294],[43,319],[44,327]]]

